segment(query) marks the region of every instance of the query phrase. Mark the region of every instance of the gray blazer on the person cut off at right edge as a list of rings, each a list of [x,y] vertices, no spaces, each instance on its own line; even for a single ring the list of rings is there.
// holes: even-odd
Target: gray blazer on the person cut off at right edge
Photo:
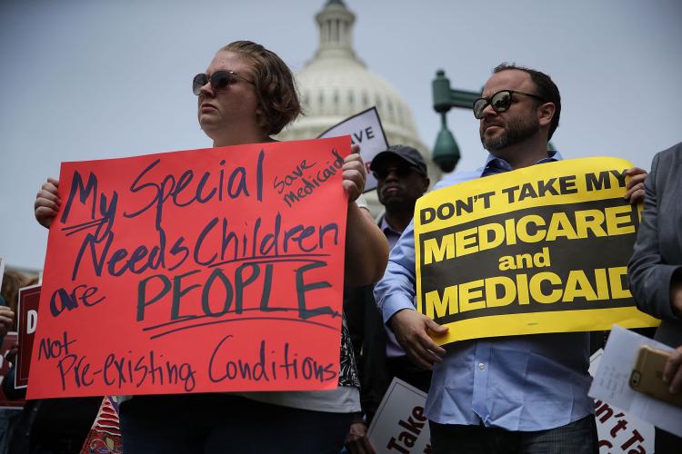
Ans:
[[[670,279],[682,268],[682,143],[654,156],[645,190],[627,275],[637,307],[661,319],[656,339],[677,348],[682,345],[682,318],[670,305]]]

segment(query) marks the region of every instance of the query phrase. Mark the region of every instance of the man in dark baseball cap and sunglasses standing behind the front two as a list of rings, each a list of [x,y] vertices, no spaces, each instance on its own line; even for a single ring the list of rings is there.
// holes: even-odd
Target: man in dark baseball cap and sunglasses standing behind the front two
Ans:
[[[376,192],[386,212],[379,228],[393,247],[415,212],[416,199],[428,189],[424,157],[415,148],[394,145],[378,153],[369,164],[376,177]],[[364,415],[351,425],[346,446],[351,452],[373,452],[367,448],[366,426],[373,418],[388,385],[394,377],[427,391],[431,371],[422,370],[410,361],[386,329],[376,310],[374,286],[346,288],[345,311],[353,348],[360,370],[360,403]]]

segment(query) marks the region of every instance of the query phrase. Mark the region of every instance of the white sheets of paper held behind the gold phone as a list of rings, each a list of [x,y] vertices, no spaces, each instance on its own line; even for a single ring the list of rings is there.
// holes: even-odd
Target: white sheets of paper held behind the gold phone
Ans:
[[[672,350],[665,344],[615,326],[608,336],[607,347],[601,355],[589,395],[596,400],[607,402],[616,412],[627,411],[631,415],[637,415],[639,419],[682,437],[682,409],[637,392],[628,384],[637,360],[637,352],[642,345],[658,350]],[[600,418],[598,410],[597,408],[597,420]],[[637,449],[637,444],[630,449]],[[651,450],[647,449],[647,452],[652,451],[653,447]]]

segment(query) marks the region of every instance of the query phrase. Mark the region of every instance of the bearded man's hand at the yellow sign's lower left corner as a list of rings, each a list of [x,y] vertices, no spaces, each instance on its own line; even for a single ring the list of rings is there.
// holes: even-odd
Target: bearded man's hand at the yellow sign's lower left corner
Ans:
[[[411,309],[397,311],[388,322],[396,334],[398,343],[416,365],[432,370],[435,362],[443,360],[438,355],[445,355],[446,350],[438,347],[438,344],[429,337],[428,332],[442,335],[447,332],[447,327]]]

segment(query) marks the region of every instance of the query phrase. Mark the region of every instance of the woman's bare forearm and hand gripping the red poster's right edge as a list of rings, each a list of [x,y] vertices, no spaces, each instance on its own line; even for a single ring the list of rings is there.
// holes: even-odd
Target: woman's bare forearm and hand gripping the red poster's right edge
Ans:
[[[346,270],[345,283],[366,285],[381,278],[386,269],[388,242],[379,230],[368,210],[360,208],[355,201],[365,189],[366,170],[359,147],[351,148],[343,169],[343,185],[348,194],[348,217],[346,221]]]

